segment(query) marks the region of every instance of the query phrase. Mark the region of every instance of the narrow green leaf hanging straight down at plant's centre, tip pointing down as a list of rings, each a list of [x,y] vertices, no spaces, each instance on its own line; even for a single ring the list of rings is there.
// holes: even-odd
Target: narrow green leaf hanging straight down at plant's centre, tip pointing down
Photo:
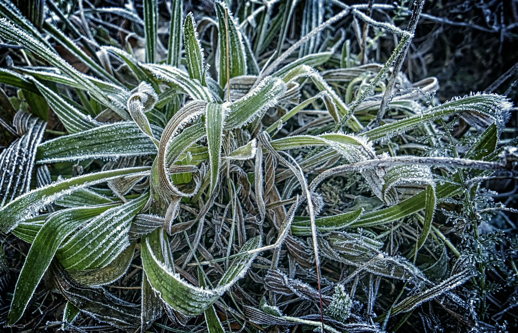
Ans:
[[[226,105],[217,103],[207,104],[205,128],[207,129],[207,144],[209,146],[210,194],[216,188],[220,176],[223,122],[226,112]]]

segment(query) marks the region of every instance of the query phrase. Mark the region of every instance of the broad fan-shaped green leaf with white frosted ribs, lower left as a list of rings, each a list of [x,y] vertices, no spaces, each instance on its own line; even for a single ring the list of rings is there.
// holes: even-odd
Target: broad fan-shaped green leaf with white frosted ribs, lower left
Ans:
[[[130,245],[128,231],[149,193],[96,216],[56,252],[66,270],[103,268]]]

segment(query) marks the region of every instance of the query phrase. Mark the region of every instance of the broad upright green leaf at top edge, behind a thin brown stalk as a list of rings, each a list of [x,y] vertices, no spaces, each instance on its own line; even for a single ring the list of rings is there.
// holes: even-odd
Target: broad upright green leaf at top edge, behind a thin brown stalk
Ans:
[[[218,68],[218,81],[220,86],[224,87],[227,80],[247,74],[247,55],[244,50],[243,37],[239,31],[239,25],[234,21],[232,12],[228,10],[225,3],[214,2],[216,15],[218,16],[219,46],[216,55],[216,64]],[[225,13],[228,13],[225,18]],[[228,21],[228,31],[226,22]],[[228,34],[228,38],[227,38]],[[228,45],[228,50],[227,50]],[[228,63],[227,63],[228,52]],[[227,68],[230,77],[227,77]]]

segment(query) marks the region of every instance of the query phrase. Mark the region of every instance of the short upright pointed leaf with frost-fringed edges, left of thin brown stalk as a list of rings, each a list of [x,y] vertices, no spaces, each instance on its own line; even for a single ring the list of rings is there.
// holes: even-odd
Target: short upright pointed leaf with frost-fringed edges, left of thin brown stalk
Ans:
[[[195,28],[194,16],[192,13],[185,18],[183,24],[183,39],[185,44],[185,59],[189,77],[202,82],[203,78],[203,49],[199,44],[198,32]]]

